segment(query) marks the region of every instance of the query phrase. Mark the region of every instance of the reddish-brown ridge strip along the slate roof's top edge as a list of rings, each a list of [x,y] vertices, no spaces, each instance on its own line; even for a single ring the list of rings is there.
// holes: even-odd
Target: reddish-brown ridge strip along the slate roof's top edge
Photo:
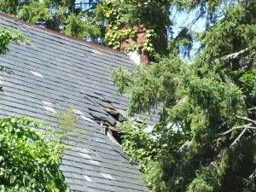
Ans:
[[[74,41],[80,42],[82,44],[91,45],[93,48],[107,49],[109,51],[116,52],[120,55],[128,56],[124,52],[121,52],[117,49],[112,49],[112,48],[109,48],[109,47],[104,46],[102,44],[96,44],[94,42],[84,41],[83,39],[80,39],[80,38],[74,38],[74,37],[71,37],[67,34],[64,34],[64,33],[61,33],[61,32],[56,32],[55,30],[52,30],[52,29],[48,29],[48,28],[44,28],[42,26],[37,26],[35,24],[31,24],[31,23],[27,22],[26,20],[20,20],[19,18],[16,18],[15,16],[12,16],[12,15],[7,15],[7,14],[4,14],[4,13],[0,12],[0,17],[6,18],[6,19],[9,19],[9,20],[15,20],[16,22],[20,22],[22,24],[25,24],[26,26],[32,26],[32,27],[37,28],[39,30],[42,30],[44,32],[49,32],[49,33],[52,33],[53,35],[61,36],[63,38],[69,38],[69,39],[72,39]]]

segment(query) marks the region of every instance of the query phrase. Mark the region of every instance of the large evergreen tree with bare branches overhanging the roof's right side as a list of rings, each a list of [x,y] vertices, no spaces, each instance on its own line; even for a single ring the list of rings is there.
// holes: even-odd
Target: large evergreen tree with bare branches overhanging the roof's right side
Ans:
[[[120,127],[123,148],[152,191],[255,190],[254,11],[251,1],[225,7],[190,65],[174,48],[153,65],[113,74],[130,115],[160,107],[149,135],[145,124]]]

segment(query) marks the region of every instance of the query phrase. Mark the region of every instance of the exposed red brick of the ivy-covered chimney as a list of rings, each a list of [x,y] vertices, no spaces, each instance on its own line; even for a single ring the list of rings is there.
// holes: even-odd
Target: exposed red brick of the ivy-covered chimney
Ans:
[[[132,45],[143,45],[146,42],[146,28],[145,27],[134,27],[134,29],[137,31],[136,35],[134,38],[130,38],[125,40],[124,42],[121,43],[120,49],[122,51],[127,52],[129,47]],[[138,52],[140,56],[140,62],[144,65],[147,66],[149,59],[148,59],[148,52],[146,50],[139,50]]]

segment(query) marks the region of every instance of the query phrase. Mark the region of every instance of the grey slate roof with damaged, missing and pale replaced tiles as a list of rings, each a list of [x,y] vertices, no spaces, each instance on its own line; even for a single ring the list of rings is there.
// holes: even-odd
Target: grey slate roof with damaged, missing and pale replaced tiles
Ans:
[[[104,134],[94,117],[114,123],[102,108],[127,108],[111,79],[116,67],[131,68],[127,55],[67,38],[0,15],[0,26],[20,30],[30,44],[10,44],[0,63],[12,68],[1,73],[0,116],[26,115],[43,119],[55,127],[55,112],[75,108],[79,137],[70,137],[73,148],[63,156],[61,170],[73,191],[148,191],[140,182],[141,173],[131,165],[118,145]]]

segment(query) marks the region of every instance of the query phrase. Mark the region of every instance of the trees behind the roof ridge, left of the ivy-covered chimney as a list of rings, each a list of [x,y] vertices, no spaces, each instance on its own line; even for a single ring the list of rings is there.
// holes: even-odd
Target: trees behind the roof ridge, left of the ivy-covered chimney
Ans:
[[[94,8],[95,3],[93,2],[90,1],[87,5]],[[102,38],[104,26],[96,20],[93,9],[91,11],[81,9],[77,1],[0,0],[0,11],[76,38],[86,38],[93,41]]]

